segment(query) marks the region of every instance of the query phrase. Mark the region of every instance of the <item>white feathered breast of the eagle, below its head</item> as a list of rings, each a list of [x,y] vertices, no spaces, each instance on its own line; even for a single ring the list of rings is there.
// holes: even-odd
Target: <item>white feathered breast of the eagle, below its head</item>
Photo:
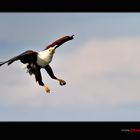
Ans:
[[[48,50],[41,51],[37,56],[37,64],[41,67],[48,65],[53,58],[53,54],[50,54]]]

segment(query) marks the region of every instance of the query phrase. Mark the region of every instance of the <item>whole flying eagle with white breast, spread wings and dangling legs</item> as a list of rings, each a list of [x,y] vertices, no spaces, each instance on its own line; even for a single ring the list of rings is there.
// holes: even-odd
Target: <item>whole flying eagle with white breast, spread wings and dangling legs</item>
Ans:
[[[59,82],[61,86],[65,85],[66,82],[63,79],[57,78],[54,75],[54,72],[50,66],[50,63],[52,61],[53,55],[55,53],[55,50],[61,46],[63,43],[72,40],[74,38],[74,35],[72,36],[63,36],[60,39],[57,39],[50,45],[46,46],[46,48],[42,51],[33,51],[33,50],[27,50],[7,61],[0,62],[0,66],[4,64],[12,64],[13,62],[20,60],[21,63],[26,64],[27,72],[30,75],[35,76],[36,82],[39,84],[39,86],[44,87],[46,93],[50,93],[50,89],[47,84],[44,84],[42,81],[42,75],[41,75],[41,69],[45,69],[49,76],[52,79],[55,79]]]

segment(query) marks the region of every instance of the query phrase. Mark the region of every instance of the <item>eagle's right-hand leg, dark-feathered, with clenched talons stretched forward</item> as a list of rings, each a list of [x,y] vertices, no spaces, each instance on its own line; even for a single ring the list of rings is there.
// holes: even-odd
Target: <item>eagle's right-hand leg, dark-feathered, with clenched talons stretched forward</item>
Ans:
[[[59,79],[59,78],[57,78],[57,77],[54,75],[54,73],[53,73],[52,68],[50,67],[50,65],[47,65],[47,66],[45,67],[45,70],[48,72],[49,76],[50,76],[52,79],[55,79],[55,80],[59,81],[59,84],[60,84],[61,86],[66,85],[66,82],[65,82],[64,80]]]

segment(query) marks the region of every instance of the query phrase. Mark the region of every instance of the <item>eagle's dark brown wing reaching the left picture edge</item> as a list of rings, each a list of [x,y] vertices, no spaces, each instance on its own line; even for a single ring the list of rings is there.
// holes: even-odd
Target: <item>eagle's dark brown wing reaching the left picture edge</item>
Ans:
[[[5,63],[8,63],[8,65],[12,64],[14,61],[20,60],[22,63],[30,63],[30,62],[34,62],[37,59],[37,52],[32,51],[32,50],[28,50],[25,51],[24,53],[15,56],[11,59],[9,59],[8,61],[5,62],[0,62],[0,66],[4,65]]]

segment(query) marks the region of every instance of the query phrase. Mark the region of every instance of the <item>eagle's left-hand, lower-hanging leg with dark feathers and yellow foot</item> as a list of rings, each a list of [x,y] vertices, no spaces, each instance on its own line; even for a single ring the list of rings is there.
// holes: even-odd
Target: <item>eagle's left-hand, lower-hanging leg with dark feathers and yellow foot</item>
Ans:
[[[50,93],[50,89],[49,89],[49,87],[48,87],[48,85],[46,84],[44,84],[43,82],[42,82],[42,76],[41,76],[41,72],[40,72],[40,68],[38,68],[37,66],[36,66],[36,68],[35,68],[35,79],[36,79],[36,82],[38,82],[38,84],[40,85],[40,86],[43,86],[44,87],[44,89],[45,89],[45,91],[47,92],[47,93]]]

